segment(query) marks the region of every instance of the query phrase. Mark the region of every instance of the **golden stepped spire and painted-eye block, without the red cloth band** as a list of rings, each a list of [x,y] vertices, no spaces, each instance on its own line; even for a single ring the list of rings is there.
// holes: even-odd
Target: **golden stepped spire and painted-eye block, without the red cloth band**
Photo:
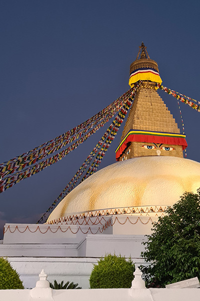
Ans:
[[[142,82],[126,120],[121,141],[131,129],[180,133],[175,119],[154,87],[155,83]],[[159,146],[159,144],[131,142],[124,150],[119,161],[141,156],[174,156],[183,158],[182,146],[172,144]],[[145,149],[144,145],[151,145],[152,149]],[[164,147],[169,147],[170,150],[167,152]]]

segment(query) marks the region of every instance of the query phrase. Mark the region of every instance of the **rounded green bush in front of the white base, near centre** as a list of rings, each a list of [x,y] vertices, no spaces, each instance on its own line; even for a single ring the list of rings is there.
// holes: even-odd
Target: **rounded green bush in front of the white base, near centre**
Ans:
[[[90,288],[129,288],[134,264],[121,255],[106,254],[94,264],[89,278]]]

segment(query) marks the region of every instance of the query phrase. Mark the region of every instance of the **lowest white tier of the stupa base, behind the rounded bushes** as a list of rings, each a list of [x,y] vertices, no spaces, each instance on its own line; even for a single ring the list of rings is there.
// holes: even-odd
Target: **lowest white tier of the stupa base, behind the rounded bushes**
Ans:
[[[26,288],[35,286],[42,268],[50,282],[54,279],[58,283],[69,280],[78,283],[82,288],[89,288],[91,270],[99,257],[8,257],[8,260],[19,273]],[[144,262],[141,258],[132,258],[132,261],[136,267]]]

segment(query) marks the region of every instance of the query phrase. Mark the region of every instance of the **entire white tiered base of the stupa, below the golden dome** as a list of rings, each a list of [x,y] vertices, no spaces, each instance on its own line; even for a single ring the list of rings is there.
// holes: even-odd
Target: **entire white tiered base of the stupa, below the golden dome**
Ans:
[[[102,222],[103,220],[103,222]],[[43,268],[48,280],[73,281],[89,287],[93,263],[105,253],[131,257],[143,263],[144,234],[150,234],[156,216],[104,216],[100,223],[84,219],[74,224],[5,224],[0,256],[7,256],[26,288],[35,286]],[[92,234],[96,233],[96,234]]]

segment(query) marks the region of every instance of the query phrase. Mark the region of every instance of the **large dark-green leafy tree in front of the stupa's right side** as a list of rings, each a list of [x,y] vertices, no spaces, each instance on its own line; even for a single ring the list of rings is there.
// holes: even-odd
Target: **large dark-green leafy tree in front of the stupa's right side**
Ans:
[[[141,256],[151,263],[140,268],[148,287],[164,287],[195,276],[200,279],[199,237],[200,190],[184,193],[147,235]]]

